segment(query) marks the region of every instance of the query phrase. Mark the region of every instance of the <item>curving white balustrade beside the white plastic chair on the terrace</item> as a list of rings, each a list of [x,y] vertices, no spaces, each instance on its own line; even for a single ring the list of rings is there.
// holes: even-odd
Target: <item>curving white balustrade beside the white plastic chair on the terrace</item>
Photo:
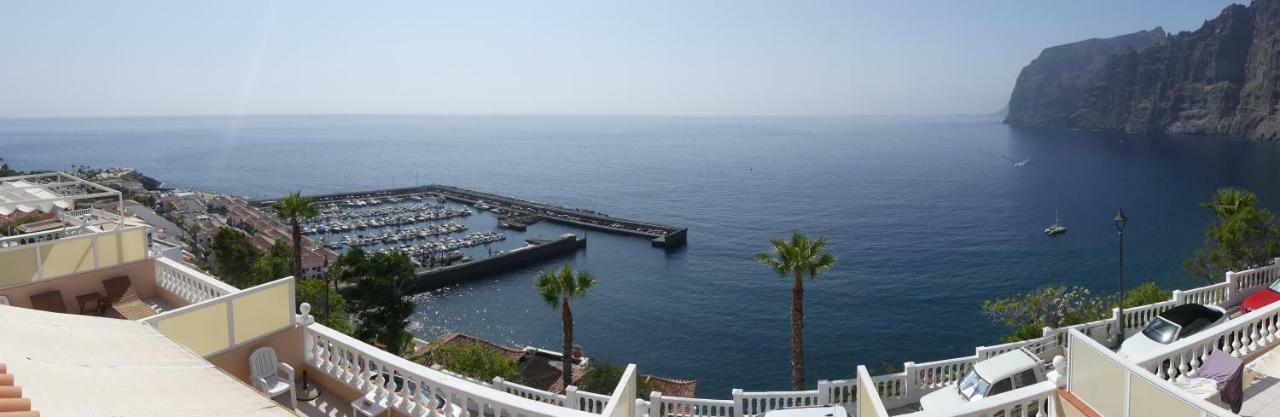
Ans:
[[[590,417],[588,412],[553,405],[413,363],[320,324],[305,333],[308,366],[361,393],[385,390],[392,409],[407,416]]]

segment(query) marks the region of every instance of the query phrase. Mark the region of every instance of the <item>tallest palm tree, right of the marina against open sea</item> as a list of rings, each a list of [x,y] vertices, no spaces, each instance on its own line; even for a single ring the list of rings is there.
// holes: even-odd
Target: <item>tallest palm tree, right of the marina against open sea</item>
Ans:
[[[756,253],[755,260],[768,265],[781,278],[794,276],[791,288],[791,389],[804,389],[804,278],[836,265],[836,256],[827,252],[827,238],[809,239],[800,232],[791,240],[771,239],[772,253]]]

